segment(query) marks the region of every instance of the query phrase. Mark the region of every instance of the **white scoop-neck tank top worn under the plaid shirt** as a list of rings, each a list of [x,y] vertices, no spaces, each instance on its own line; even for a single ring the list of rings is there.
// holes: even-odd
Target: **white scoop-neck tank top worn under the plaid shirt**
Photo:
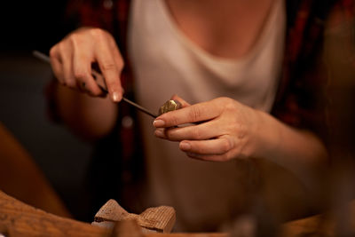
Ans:
[[[239,59],[216,57],[193,43],[162,0],[134,0],[131,7],[129,55],[139,104],[157,111],[173,94],[191,104],[223,96],[271,110],[283,55],[282,0],[273,5],[251,51]],[[139,122],[146,149],[146,205],[177,209],[176,230],[212,225],[245,204],[237,161],[192,160],[177,143],[154,137],[150,117],[139,114]]]

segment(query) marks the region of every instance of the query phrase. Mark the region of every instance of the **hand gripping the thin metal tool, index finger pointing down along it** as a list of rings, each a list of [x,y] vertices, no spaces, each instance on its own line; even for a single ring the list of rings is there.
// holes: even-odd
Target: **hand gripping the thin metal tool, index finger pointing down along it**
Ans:
[[[100,28],[79,28],[51,47],[51,67],[60,83],[103,96],[91,75],[91,64],[97,63],[105,78],[110,98],[122,99],[120,75],[124,65],[114,37]]]

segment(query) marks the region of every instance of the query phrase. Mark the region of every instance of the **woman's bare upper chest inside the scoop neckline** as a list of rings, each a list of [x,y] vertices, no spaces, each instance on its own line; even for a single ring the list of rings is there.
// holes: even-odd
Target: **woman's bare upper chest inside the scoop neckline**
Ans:
[[[185,36],[205,51],[237,59],[250,51],[274,0],[165,0]]]

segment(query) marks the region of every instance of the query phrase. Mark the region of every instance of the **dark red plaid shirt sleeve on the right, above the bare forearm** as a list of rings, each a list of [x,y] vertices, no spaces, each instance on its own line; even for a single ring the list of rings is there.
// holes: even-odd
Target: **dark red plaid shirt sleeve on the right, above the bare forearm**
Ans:
[[[354,22],[355,8],[354,1],[347,0],[339,0],[331,5],[322,4],[321,7],[314,7],[310,3],[311,1],[304,1],[294,14],[295,19],[288,20],[293,23],[288,25],[283,74],[272,115],[290,126],[311,130],[327,145],[334,128],[332,123],[335,119],[332,115],[335,107],[332,100],[336,99],[333,92],[338,80],[334,74],[329,73],[334,68],[331,68],[324,57],[331,45],[327,37],[327,26],[329,18],[335,12],[338,15],[338,24],[351,25],[350,22]],[[355,41],[353,38],[349,39],[349,36],[353,35],[344,35],[348,39],[344,39],[341,46],[344,47],[345,42],[348,42],[347,51],[351,51],[349,42]],[[339,41],[334,45],[340,46]],[[351,57],[348,57],[348,69],[351,64],[354,65],[353,59],[352,57],[351,62]]]

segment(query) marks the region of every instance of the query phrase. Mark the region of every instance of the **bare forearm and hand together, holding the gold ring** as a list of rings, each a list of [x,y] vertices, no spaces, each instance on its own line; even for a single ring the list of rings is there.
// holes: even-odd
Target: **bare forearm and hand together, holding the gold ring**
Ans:
[[[183,108],[157,117],[155,136],[179,141],[188,156],[215,162],[266,159],[292,170],[311,190],[319,188],[327,150],[311,131],[290,127],[233,99],[217,98],[192,106],[177,96],[172,99]],[[195,124],[182,126],[186,123]]]

